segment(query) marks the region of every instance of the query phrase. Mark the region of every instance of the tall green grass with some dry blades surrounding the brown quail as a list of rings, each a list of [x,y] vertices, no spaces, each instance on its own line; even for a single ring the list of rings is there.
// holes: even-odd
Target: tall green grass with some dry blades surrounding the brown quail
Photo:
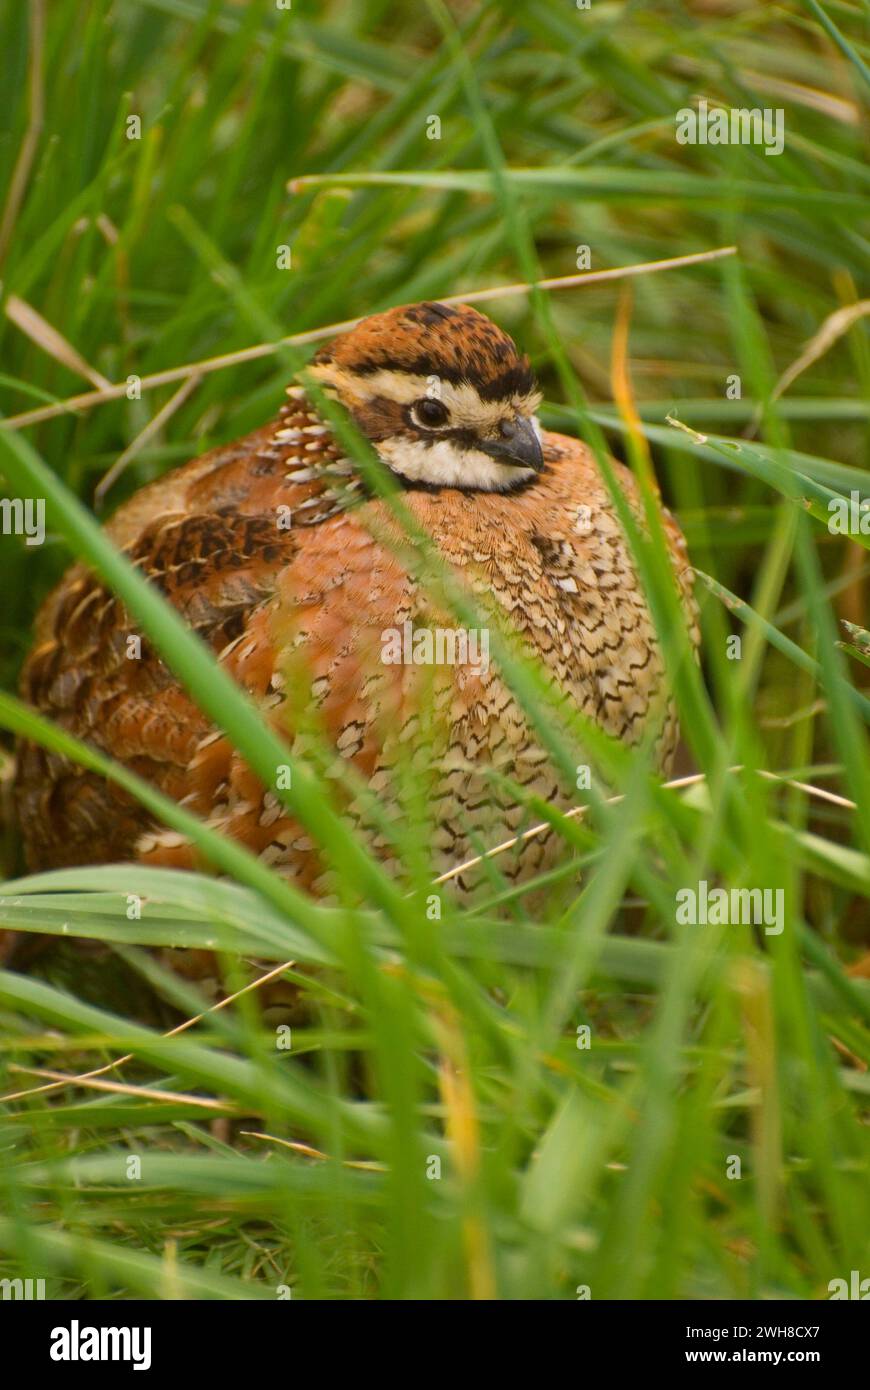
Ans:
[[[11,845],[0,926],[107,954],[0,972],[0,1272],[88,1298],[826,1297],[866,1259],[870,1207],[870,538],[827,525],[870,493],[866,10],[54,0],[3,11],[0,47],[0,467],[50,523],[40,548],[3,537],[0,726],[118,780],[220,874],[19,877]],[[782,107],[784,153],[677,145],[696,95]],[[327,906],[15,701],[76,555],[272,783],[284,744],[93,512],[267,420],[300,335],[574,275],[582,246],[592,270],[737,247],[631,297],[491,304],[545,423],[613,489],[691,776],[662,785],[648,749],[566,717],[504,641],[563,777],[600,769],[582,819],[556,820],[561,865],[517,890],[492,858],[457,905],[409,777],[392,880],[311,756],[285,795],[339,873]],[[131,375],[139,399],[107,389]],[[700,577],[700,667],[650,461]],[[385,502],[406,562],[474,619]],[[702,880],[782,890],[784,931],[681,924]],[[232,1002],[154,947],[217,951]],[[249,987],[272,965],[302,999],[292,1037]]]

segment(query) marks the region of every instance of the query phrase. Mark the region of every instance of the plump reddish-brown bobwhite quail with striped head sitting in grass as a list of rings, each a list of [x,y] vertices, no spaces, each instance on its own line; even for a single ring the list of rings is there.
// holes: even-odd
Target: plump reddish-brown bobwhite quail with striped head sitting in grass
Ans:
[[[666,770],[677,720],[628,543],[589,450],[541,431],[534,377],[513,341],[467,306],[411,304],[342,334],[311,371],[474,596],[507,614],[561,694],[610,734],[634,744],[656,720]],[[638,512],[632,477],[614,467]],[[424,716],[422,669],[385,659],[385,634],[404,642],[438,614],[389,545],[402,532],[388,505],[367,493],[303,388],[289,388],[277,420],[143,488],[107,531],[300,756],[315,712],[392,816],[402,815],[397,762],[417,759],[431,778],[434,874],[528,823],[493,773],[555,805],[574,802],[495,666],[429,671]],[[666,531],[696,641],[685,542],[667,516]],[[300,885],[327,891],[302,827],[131,634],[124,606],[74,566],[39,614],[25,699]],[[21,745],[18,764],[32,869],[195,865],[189,844],[117,787],[33,744]],[[389,860],[389,837],[350,792],[343,805]],[[499,865],[527,878],[553,849],[550,837],[534,838]]]

